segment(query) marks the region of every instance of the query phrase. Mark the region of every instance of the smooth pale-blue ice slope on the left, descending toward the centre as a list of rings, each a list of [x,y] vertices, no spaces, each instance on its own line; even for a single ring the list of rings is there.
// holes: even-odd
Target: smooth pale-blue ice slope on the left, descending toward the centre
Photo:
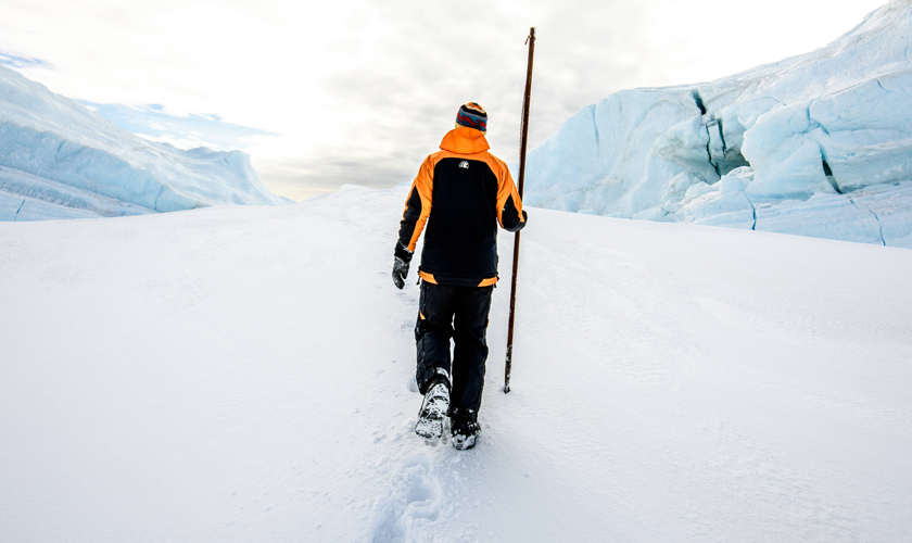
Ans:
[[[0,220],[290,203],[241,151],[145,140],[0,66]]]

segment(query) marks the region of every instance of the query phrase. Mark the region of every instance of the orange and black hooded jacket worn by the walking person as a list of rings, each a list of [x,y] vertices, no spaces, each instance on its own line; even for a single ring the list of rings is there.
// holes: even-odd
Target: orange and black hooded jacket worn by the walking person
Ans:
[[[411,258],[425,232],[419,274],[438,285],[497,282],[497,224],[518,231],[525,213],[507,165],[484,134],[457,127],[428,156],[405,202],[396,255]]]

